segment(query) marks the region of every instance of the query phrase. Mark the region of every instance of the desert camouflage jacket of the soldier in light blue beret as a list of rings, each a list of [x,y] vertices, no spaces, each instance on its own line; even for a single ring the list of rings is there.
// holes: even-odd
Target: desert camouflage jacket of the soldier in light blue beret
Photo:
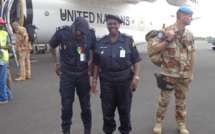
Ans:
[[[175,37],[163,51],[163,63],[161,64],[161,74],[177,78],[189,78],[191,53],[196,50],[194,36],[188,29],[184,29],[180,38],[176,24],[164,28],[164,30],[175,31]],[[155,38],[153,45],[162,42]]]

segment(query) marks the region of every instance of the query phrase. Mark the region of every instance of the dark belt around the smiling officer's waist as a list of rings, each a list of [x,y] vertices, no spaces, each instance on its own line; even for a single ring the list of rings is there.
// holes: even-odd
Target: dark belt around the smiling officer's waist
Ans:
[[[123,77],[123,76],[128,76],[132,72],[131,68],[128,68],[123,71],[119,72],[108,72],[108,71],[102,71],[101,73],[110,77]]]

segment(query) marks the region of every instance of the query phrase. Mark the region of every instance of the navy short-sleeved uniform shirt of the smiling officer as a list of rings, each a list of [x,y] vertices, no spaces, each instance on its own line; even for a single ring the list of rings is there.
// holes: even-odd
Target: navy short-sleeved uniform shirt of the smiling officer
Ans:
[[[93,63],[98,65],[102,72],[120,72],[131,68],[139,61],[141,57],[134,40],[120,32],[116,42],[112,42],[109,36],[99,40],[93,55]]]

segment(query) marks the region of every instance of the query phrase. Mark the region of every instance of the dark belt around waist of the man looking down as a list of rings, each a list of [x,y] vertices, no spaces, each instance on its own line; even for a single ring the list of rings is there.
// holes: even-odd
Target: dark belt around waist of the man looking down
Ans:
[[[84,71],[84,70],[88,69],[87,64],[84,64],[84,65],[81,65],[81,66],[69,66],[69,65],[66,65],[65,63],[61,63],[61,67],[62,67],[62,69],[72,71],[72,72]]]

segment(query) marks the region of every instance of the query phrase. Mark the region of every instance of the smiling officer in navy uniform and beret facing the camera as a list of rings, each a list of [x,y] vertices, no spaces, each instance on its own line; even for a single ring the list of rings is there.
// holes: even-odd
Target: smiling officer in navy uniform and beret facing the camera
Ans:
[[[119,131],[131,131],[130,111],[132,94],[137,88],[140,74],[140,55],[132,37],[118,31],[123,21],[115,15],[107,15],[109,35],[98,41],[93,55],[93,80],[91,91],[97,93],[97,77],[100,79],[103,131],[112,134],[116,129],[114,113],[118,109]],[[133,66],[133,70],[132,67]]]

